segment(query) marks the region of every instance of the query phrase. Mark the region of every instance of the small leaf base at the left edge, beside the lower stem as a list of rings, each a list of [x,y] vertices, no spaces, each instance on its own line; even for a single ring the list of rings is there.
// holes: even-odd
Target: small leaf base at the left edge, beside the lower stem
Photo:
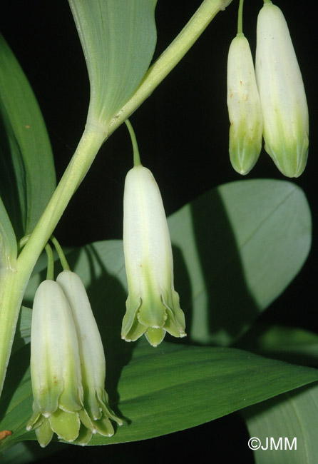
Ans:
[[[16,259],[16,254],[16,236],[0,197],[0,269],[11,268],[13,260]]]

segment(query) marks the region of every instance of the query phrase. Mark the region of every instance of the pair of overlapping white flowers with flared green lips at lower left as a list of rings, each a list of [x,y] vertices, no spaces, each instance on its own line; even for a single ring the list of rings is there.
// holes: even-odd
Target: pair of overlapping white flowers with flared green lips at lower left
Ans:
[[[41,283],[34,298],[31,325],[33,410],[26,428],[35,429],[42,447],[53,433],[86,445],[93,433],[111,436],[104,389],[106,363],[98,327],[81,279],[63,271]]]

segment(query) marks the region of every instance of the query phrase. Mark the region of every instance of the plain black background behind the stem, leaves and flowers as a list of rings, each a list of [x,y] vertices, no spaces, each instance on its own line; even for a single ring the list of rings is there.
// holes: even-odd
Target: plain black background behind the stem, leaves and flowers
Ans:
[[[127,0],[129,1],[129,0]],[[199,6],[198,0],[158,0],[158,45],[165,49]],[[277,0],[289,24],[302,69],[311,127],[307,169],[294,180],[304,189],[312,208],[312,252],[292,286],[262,316],[263,321],[289,323],[317,331],[312,298],[316,295],[317,259],[317,28],[309,6],[296,0]],[[6,1],[0,28],[31,82],[53,146],[56,172],[61,177],[81,137],[86,121],[89,87],[81,45],[66,0]],[[153,95],[130,118],[143,164],[153,171],[166,213],[176,211],[200,193],[238,180],[227,152],[228,116],[226,66],[230,41],[236,34],[238,1],[217,14],[185,58]],[[257,13],[262,1],[246,0],[244,32],[255,51]],[[121,238],[125,174],[132,166],[130,138],[118,128],[98,154],[58,225],[62,245]],[[283,178],[262,151],[247,178]],[[182,418],[181,418],[182,420]],[[174,459],[214,460],[217,463],[253,462],[248,434],[239,414],[162,438],[102,448],[63,447],[58,460],[87,462],[161,463]],[[208,453],[208,454],[207,454]],[[215,460],[215,455],[220,455]],[[222,456],[222,457],[221,457]],[[56,462],[57,456],[46,463]]]

